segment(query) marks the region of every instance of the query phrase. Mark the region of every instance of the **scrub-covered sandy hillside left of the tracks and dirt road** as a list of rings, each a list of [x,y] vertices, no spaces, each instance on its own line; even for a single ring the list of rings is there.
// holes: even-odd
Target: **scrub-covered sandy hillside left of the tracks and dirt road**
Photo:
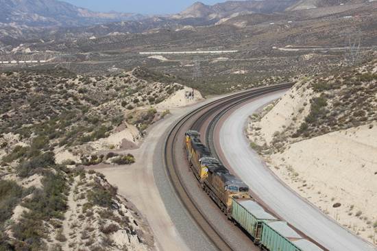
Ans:
[[[127,151],[149,125],[201,97],[175,81],[141,68],[0,73],[0,250],[151,250],[132,202],[85,167],[138,161]]]

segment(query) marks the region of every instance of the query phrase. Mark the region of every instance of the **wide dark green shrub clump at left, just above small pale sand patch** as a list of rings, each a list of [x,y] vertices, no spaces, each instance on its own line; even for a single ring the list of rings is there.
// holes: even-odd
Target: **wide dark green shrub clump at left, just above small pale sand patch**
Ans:
[[[16,169],[20,177],[27,177],[32,175],[36,169],[51,167],[55,164],[55,154],[46,152],[30,160],[23,161]]]

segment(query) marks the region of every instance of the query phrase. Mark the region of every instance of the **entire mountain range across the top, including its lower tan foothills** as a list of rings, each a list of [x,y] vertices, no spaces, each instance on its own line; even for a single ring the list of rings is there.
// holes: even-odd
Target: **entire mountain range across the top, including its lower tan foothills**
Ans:
[[[262,0],[194,3],[178,14],[143,16],[93,12],[57,0],[0,0],[0,49],[42,40],[90,38],[158,32],[159,29],[195,30],[208,25],[287,22],[319,16],[350,16],[369,10],[369,0]],[[342,14],[341,14],[342,13]]]

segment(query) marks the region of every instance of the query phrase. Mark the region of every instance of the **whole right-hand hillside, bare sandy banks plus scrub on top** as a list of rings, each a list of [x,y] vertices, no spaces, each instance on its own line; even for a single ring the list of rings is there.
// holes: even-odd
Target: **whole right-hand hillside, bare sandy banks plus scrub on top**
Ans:
[[[377,62],[303,77],[253,115],[252,147],[304,198],[376,244]]]

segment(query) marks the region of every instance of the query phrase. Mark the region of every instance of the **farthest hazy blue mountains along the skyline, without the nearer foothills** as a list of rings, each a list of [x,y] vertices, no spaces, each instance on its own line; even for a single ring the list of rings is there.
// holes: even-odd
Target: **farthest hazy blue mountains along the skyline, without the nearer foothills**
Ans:
[[[0,0],[0,27],[80,27],[119,21],[173,21],[180,25],[210,25],[241,14],[284,12],[366,0],[256,0],[226,1],[215,5],[194,3],[178,14],[145,16],[134,13],[93,12],[57,0]],[[132,26],[137,25],[133,24]],[[156,27],[159,27],[156,25]],[[150,27],[150,25],[147,25]]]

